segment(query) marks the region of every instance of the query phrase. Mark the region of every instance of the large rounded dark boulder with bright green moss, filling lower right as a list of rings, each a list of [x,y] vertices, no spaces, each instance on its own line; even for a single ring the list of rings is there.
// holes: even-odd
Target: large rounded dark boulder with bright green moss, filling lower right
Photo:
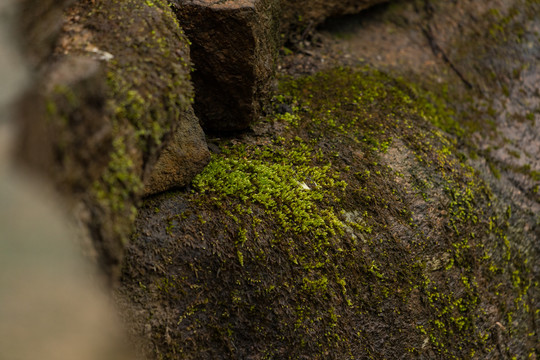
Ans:
[[[370,68],[275,100],[141,209],[119,298],[150,358],[538,353],[538,224],[437,127],[459,129],[444,101]]]

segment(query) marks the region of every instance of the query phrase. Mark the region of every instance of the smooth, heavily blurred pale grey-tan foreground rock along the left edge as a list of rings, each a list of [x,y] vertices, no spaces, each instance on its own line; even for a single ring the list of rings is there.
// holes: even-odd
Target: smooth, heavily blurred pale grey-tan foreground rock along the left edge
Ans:
[[[44,179],[13,164],[17,127],[8,110],[31,78],[12,36],[15,3],[0,2],[0,358],[134,359],[105,282],[81,255],[80,234],[62,202]],[[25,20],[55,23],[41,2],[24,5],[38,13]],[[62,5],[47,4],[53,14]],[[54,36],[53,28],[36,36]],[[42,59],[42,50],[36,45],[32,59]]]

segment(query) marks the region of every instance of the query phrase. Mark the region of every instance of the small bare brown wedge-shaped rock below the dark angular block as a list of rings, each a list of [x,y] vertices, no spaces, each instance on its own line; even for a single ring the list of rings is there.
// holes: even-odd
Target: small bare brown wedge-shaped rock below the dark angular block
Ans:
[[[204,133],[193,111],[186,111],[169,145],[152,170],[145,194],[156,194],[174,187],[183,187],[202,171],[210,161],[210,151],[204,140]]]

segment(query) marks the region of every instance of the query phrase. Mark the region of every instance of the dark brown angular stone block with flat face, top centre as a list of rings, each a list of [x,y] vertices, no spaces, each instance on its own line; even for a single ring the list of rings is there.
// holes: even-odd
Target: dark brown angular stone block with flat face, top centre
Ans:
[[[268,100],[278,42],[274,0],[175,0],[192,42],[195,113],[205,129],[245,129]]]

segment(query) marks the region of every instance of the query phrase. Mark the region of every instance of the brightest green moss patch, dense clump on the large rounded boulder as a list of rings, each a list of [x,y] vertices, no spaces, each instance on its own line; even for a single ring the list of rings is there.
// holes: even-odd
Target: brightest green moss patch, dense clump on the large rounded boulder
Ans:
[[[281,231],[309,235],[312,251],[320,253],[344,226],[325,200],[335,200],[346,187],[329,164],[316,165],[320,157],[300,139],[278,139],[264,148],[233,146],[214,156],[193,185],[215,202],[233,198],[264,208]],[[303,261],[298,254],[291,256],[296,263]],[[239,259],[242,262],[242,256]]]

